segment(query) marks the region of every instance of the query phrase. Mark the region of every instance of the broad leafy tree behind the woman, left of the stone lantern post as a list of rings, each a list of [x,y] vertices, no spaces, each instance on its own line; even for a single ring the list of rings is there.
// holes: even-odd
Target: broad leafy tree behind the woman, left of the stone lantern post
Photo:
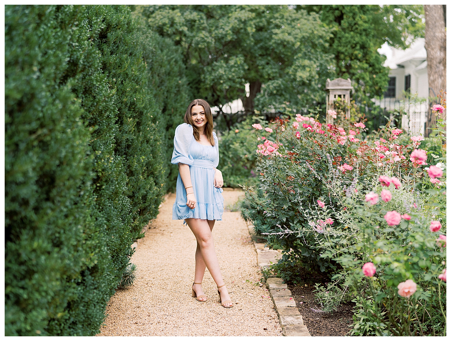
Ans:
[[[137,6],[148,25],[181,47],[195,97],[222,112],[241,98],[246,114],[299,112],[323,102],[331,73],[329,30],[318,14],[280,5]],[[249,83],[249,97],[244,84]]]

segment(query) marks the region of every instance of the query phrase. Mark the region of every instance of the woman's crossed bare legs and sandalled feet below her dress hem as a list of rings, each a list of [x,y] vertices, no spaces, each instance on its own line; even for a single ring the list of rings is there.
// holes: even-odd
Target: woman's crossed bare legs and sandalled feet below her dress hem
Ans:
[[[194,236],[197,239],[196,248],[196,270],[194,274],[194,281],[196,283],[201,283],[203,274],[205,272],[205,266],[210,271],[213,280],[216,282],[217,286],[224,284],[224,280],[221,276],[221,270],[219,268],[218,259],[216,257],[215,246],[213,243],[212,229],[215,224],[214,220],[203,220],[188,218],[185,219],[191,231],[193,231]],[[199,257],[200,255],[200,257]],[[202,294],[202,288],[200,285],[194,285],[194,290],[198,295]],[[223,286],[219,289],[221,292],[222,301],[230,299],[227,288]],[[231,304],[226,304],[231,305]]]

